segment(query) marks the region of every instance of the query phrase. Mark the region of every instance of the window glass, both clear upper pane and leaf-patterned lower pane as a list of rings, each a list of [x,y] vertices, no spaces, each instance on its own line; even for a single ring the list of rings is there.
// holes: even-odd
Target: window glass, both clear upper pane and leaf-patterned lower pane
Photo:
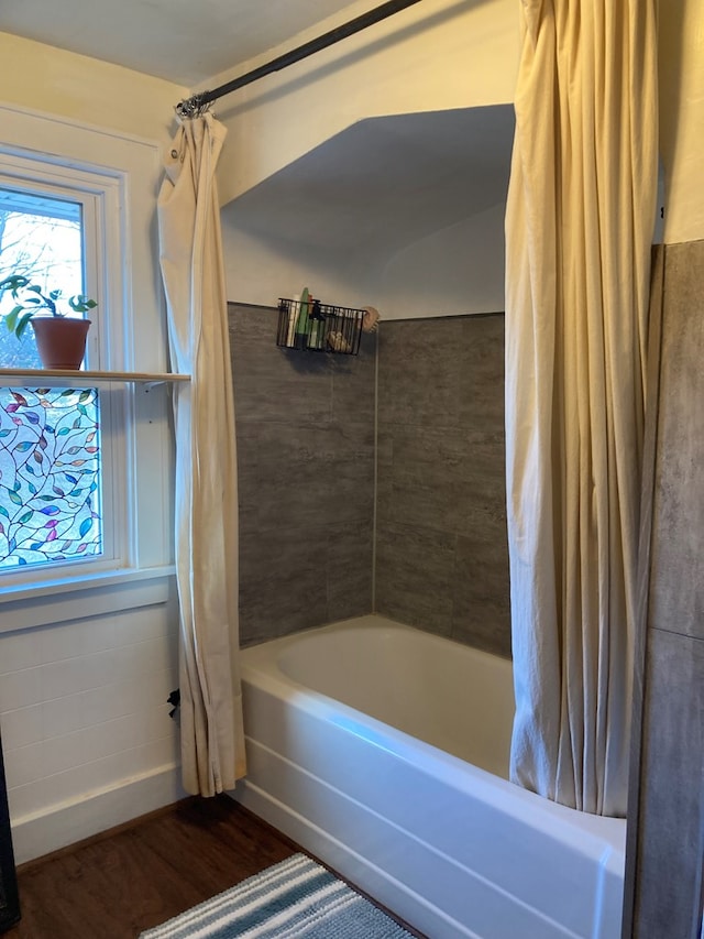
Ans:
[[[0,281],[84,293],[82,217],[75,199],[0,187]],[[0,313],[13,305],[6,291]],[[41,367],[31,328],[0,331],[0,362]],[[0,574],[102,555],[101,463],[98,389],[0,389]]]

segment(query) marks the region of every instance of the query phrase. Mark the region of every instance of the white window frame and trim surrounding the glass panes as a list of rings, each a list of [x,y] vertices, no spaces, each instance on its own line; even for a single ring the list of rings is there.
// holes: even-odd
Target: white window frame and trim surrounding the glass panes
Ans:
[[[158,146],[10,106],[0,106],[0,128],[4,185],[12,179],[13,186],[31,189],[33,181],[43,182],[55,192],[64,187],[95,200],[94,221],[88,223],[96,230],[86,229],[85,234],[86,291],[99,304],[91,316],[97,328],[89,332],[90,368],[166,371],[154,225]],[[92,244],[99,248],[91,254]],[[121,527],[117,550],[111,558],[74,561],[61,576],[53,566],[2,575],[0,632],[132,609],[172,596],[174,450],[167,386],[116,381],[101,386],[100,398],[101,408],[112,411],[111,439],[103,433],[102,446],[107,449],[109,443],[118,478],[103,477],[103,504],[106,516],[109,511]]]

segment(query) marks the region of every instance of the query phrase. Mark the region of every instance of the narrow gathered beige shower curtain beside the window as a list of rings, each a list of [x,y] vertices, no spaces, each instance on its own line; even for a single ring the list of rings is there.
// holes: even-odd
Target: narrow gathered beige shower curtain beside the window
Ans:
[[[176,568],[184,787],[212,796],[244,775],[238,666],[234,408],[216,166],[226,130],[185,119],[158,197],[174,385]]]

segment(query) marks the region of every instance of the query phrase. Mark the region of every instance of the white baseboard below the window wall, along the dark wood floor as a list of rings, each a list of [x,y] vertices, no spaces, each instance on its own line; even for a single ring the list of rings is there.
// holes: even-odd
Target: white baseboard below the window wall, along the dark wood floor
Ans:
[[[110,789],[12,820],[15,864],[32,861],[186,797],[180,767],[160,766]]]

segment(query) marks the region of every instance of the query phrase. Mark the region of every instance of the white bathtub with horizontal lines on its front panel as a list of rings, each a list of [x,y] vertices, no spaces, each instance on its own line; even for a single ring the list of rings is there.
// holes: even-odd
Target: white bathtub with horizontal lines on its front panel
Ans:
[[[256,815],[430,939],[618,939],[625,822],[506,780],[510,663],[370,615],[242,666]]]

